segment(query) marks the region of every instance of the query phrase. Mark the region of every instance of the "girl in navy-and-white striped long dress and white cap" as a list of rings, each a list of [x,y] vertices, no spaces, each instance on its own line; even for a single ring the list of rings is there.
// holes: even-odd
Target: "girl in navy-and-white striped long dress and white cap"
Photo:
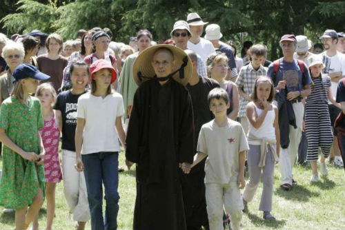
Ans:
[[[328,100],[333,105],[340,107],[335,102],[331,91],[331,79],[327,75],[322,74],[325,65],[318,56],[312,56],[309,61],[309,71],[313,85],[311,95],[306,98],[306,108],[303,127],[308,139],[308,150],[306,160],[311,162],[313,174],[311,182],[319,180],[317,173],[317,158],[319,148],[322,151],[320,158],[320,173],[322,176],[328,176],[325,158],[331,152],[333,143],[333,134],[331,129],[331,118],[328,112]]]

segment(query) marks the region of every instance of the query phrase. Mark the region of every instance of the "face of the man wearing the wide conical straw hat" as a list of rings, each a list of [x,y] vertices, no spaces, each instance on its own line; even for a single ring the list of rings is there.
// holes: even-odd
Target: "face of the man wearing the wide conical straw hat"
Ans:
[[[158,50],[152,59],[152,67],[157,77],[165,77],[172,73],[174,57],[168,50]]]

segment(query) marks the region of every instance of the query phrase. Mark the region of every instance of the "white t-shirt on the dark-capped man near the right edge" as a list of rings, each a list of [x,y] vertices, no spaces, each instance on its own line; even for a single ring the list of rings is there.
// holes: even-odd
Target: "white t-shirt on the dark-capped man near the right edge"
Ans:
[[[322,56],[324,56],[324,65],[326,67],[324,68],[324,73],[333,73],[333,72],[342,72],[342,76],[345,75],[345,55],[337,52],[334,56],[327,56],[326,51],[322,53]],[[337,87],[338,83],[331,82],[331,91],[333,96],[337,95]]]

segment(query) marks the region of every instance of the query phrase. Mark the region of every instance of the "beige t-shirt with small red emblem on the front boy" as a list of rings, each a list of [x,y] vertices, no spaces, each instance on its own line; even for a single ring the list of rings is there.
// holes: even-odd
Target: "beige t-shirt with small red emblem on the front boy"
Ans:
[[[237,181],[239,152],[248,149],[246,134],[237,121],[228,118],[224,127],[219,127],[215,120],[204,124],[199,132],[197,151],[208,155],[205,183]]]

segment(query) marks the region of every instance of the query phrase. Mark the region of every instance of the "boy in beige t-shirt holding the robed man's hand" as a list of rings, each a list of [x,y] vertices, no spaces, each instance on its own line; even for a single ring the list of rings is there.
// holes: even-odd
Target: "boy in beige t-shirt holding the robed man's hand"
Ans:
[[[224,229],[223,206],[230,214],[231,229],[240,229],[241,193],[244,180],[245,151],[249,149],[246,134],[237,121],[226,116],[230,107],[228,94],[215,88],[208,94],[208,104],[215,119],[204,124],[199,133],[197,155],[193,165],[206,159],[205,187],[210,229]]]

